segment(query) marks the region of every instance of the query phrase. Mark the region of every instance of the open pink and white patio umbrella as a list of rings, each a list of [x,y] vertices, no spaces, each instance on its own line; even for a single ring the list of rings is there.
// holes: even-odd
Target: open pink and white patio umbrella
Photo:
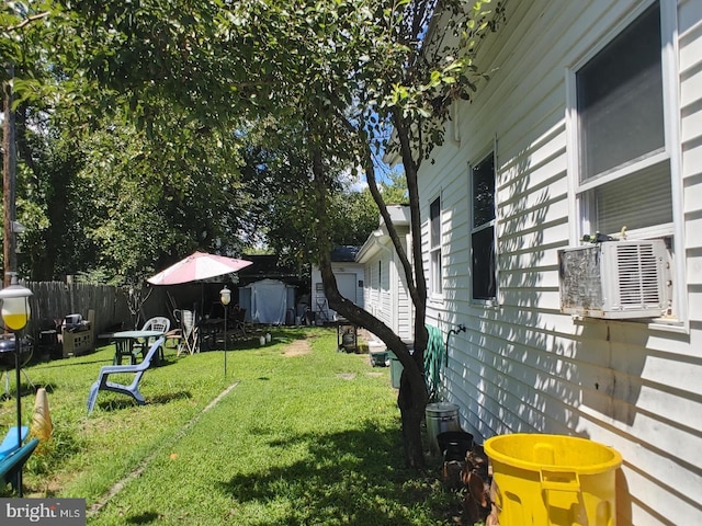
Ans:
[[[240,271],[252,261],[226,258],[224,255],[193,252],[188,258],[147,279],[151,285],[178,285],[222,276]]]

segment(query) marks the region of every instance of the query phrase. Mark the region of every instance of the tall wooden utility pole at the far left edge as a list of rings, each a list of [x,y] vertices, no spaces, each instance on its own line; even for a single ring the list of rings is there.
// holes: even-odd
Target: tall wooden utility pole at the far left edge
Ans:
[[[3,286],[10,285],[11,273],[16,272],[16,238],[13,229],[16,219],[15,208],[15,181],[16,181],[16,150],[14,142],[14,111],[12,110],[12,81],[14,79],[14,66],[8,66],[8,80],[2,84],[2,103],[4,119],[2,124],[2,196],[3,196],[3,258],[4,278]]]

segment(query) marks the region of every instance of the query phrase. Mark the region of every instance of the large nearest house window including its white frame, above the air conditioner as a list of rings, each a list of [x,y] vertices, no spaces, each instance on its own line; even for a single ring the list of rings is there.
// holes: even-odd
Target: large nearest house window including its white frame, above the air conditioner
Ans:
[[[681,275],[673,261],[681,228],[673,204],[679,110],[669,45],[676,16],[675,2],[654,1],[635,13],[570,71],[569,107],[578,236],[664,238]]]

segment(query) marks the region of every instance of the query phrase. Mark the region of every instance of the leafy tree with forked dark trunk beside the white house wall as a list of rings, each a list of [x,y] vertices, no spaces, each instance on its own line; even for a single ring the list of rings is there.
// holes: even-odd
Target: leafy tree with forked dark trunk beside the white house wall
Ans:
[[[139,265],[137,249],[154,250],[149,256],[158,258],[158,251],[178,245],[180,232],[165,225],[170,215],[176,224],[183,220],[196,244],[216,245],[225,242],[220,232],[239,235],[239,227],[253,225],[281,244],[295,239],[290,230],[297,231],[287,250],[319,261],[330,307],[371,329],[403,363],[398,403],[407,461],[420,466],[427,289],[417,172],[443,141],[451,104],[469,100],[484,78],[474,62],[476,50],[500,13],[499,4],[491,11],[487,0],[13,2],[0,21],[7,30],[0,49],[16,64],[36,58],[18,68],[20,103],[48,96],[52,110],[97,134],[81,146],[102,148],[102,156],[78,148],[73,160],[73,150],[61,149],[71,158],[61,168],[80,165],[83,184],[75,186],[77,194],[86,183],[99,182],[94,209],[88,207],[78,226],[103,261],[121,258],[120,272]],[[25,43],[36,48],[25,53]],[[58,108],[59,101],[65,108]],[[114,129],[120,139],[111,142]],[[377,182],[374,159],[384,155],[396,156],[404,167],[411,259]],[[242,184],[267,186],[250,193],[249,204],[260,198],[256,206],[237,217],[236,209],[225,215],[223,229],[220,210],[233,203],[242,165]],[[350,201],[340,175],[355,167],[365,172],[405,272],[416,310],[411,356],[397,334],[339,295],[330,270],[335,236],[346,236],[336,214]],[[136,175],[125,178],[128,170]],[[208,206],[194,205],[201,198],[210,199]],[[192,210],[185,210],[189,204]],[[283,213],[274,217],[271,207]],[[260,217],[247,214],[252,209]],[[101,213],[107,214],[103,225],[89,222]]]

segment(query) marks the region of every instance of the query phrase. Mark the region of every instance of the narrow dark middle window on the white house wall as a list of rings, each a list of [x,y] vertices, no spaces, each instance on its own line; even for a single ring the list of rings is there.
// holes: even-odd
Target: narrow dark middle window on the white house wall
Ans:
[[[497,297],[494,153],[472,167],[471,182],[473,299],[491,301]]]

